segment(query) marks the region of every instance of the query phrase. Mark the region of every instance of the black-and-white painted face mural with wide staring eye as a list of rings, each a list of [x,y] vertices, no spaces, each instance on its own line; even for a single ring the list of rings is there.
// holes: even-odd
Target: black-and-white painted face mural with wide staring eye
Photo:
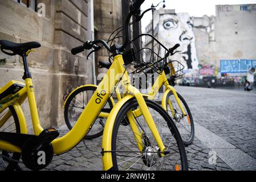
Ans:
[[[181,46],[181,51],[171,57],[172,60],[181,61],[185,69],[197,69],[196,38],[193,32],[193,22],[188,13],[162,14],[159,21],[160,42],[168,48],[175,44]]]

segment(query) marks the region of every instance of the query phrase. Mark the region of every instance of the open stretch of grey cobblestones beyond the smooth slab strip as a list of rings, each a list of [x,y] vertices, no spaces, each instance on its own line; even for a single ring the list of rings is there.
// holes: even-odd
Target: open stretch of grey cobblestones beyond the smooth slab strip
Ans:
[[[256,94],[177,87],[194,121],[256,159]]]

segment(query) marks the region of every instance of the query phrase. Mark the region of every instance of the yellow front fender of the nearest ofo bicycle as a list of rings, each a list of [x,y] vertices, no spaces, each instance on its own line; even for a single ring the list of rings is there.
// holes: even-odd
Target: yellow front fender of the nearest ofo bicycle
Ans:
[[[111,113],[108,116],[107,122],[105,123],[104,127],[104,132],[103,132],[103,137],[102,137],[102,162],[103,162],[103,170],[108,171],[113,167],[112,164],[112,154],[111,152],[105,152],[105,151],[111,151],[111,146],[112,146],[112,131],[113,131],[113,126],[116,120],[116,115],[119,113],[119,110],[121,107],[134,98],[134,96],[126,96],[122,98],[117,104],[113,107],[111,110]]]

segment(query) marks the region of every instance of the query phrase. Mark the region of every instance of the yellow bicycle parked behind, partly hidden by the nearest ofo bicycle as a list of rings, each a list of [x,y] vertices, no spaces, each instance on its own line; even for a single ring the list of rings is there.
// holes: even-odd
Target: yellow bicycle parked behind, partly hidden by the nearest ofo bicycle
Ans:
[[[171,55],[174,54],[173,52],[177,47],[178,45],[169,50]],[[99,67],[109,69],[111,67],[111,63],[100,61]],[[161,75],[157,74],[159,76],[156,78],[147,98],[149,100],[155,100],[159,90],[162,88],[162,86],[165,86],[165,91],[162,95],[161,102],[162,108],[168,111],[170,117],[172,117],[173,121],[176,123],[184,144],[188,146],[192,144],[194,139],[193,117],[184,98],[173,88],[175,81],[182,77],[183,69],[184,66],[178,61],[170,61],[168,65],[165,65],[164,72],[162,72]],[[137,82],[141,83],[141,81]],[[96,85],[79,86],[79,88],[73,90],[65,98],[63,106],[64,119],[68,129],[71,130],[75,125],[84,107],[87,105],[96,89]],[[116,96],[117,100],[121,100],[121,94],[118,88],[116,88]],[[110,113],[113,106],[115,106],[115,102],[111,97],[104,106],[103,110],[101,110],[101,113],[94,125],[91,126],[90,132],[87,133],[85,139],[95,139],[103,135],[105,121],[107,120],[108,113]]]

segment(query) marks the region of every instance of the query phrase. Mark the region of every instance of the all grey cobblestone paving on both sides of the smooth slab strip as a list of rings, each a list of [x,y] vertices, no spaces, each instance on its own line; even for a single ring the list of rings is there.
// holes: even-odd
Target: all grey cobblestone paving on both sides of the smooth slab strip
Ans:
[[[177,90],[188,103],[195,122],[256,159],[256,94],[189,87]],[[66,132],[61,130],[62,135]],[[66,154],[54,156],[45,170],[101,170],[100,152],[101,137],[83,140]],[[218,156],[216,164],[210,164],[211,150],[197,137],[186,152],[190,170],[232,170]]]

